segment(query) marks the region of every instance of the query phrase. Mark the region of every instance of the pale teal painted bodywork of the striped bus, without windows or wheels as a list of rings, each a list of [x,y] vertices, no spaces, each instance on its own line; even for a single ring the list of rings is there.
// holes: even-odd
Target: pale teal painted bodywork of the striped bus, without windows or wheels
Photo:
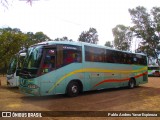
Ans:
[[[136,85],[148,82],[146,65],[86,61],[84,48],[82,45],[81,63],[74,62],[32,79],[21,78],[20,90],[27,95],[44,96],[65,94],[72,80],[80,81],[83,91],[128,86],[131,78]],[[34,88],[29,88],[30,84]]]

